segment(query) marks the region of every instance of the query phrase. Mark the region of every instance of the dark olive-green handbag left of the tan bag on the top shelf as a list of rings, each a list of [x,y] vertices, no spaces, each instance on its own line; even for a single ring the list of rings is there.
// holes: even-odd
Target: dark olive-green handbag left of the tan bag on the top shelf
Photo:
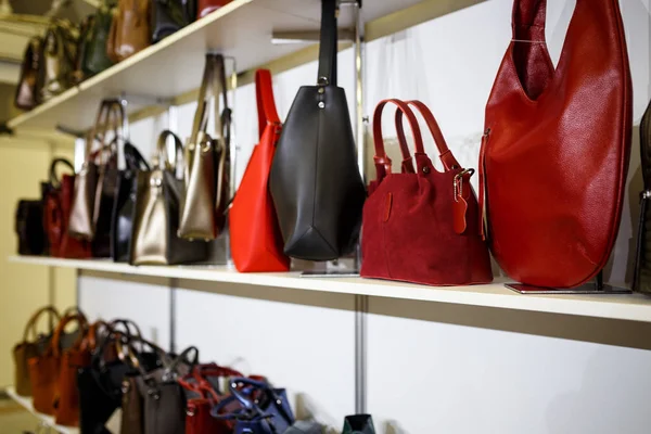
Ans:
[[[87,33],[88,40],[84,44],[84,60],[81,67],[88,76],[93,76],[113,65],[107,54],[107,39],[113,23],[113,16],[117,14],[115,7],[103,1],[94,14],[91,27]]]

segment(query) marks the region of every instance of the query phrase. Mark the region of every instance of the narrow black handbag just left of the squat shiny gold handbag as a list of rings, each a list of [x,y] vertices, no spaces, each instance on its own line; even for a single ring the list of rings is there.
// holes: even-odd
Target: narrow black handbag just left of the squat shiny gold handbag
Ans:
[[[116,263],[128,263],[130,259],[131,230],[136,209],[136,180],[140,170],[150,170],[142,154],[131,143],[125,143],[124,154],[127,168],[120,170],[117,178],[117,193],[111,219],[111,257]]]

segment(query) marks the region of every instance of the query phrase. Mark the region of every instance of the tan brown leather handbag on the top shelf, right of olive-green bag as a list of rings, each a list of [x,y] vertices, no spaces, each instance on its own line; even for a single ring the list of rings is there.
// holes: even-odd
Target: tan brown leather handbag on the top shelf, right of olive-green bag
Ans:
[[[119,0],[111,23],[106,53],[124,61],[152,43],[150,0]]]

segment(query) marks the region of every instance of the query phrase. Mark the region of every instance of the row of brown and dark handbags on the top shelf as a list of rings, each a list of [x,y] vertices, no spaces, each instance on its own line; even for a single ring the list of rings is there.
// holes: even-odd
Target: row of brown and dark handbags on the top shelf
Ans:
[[[55,97],[232,0],[102,0],[80,25],[56,20],[25,49],[14,104]]]

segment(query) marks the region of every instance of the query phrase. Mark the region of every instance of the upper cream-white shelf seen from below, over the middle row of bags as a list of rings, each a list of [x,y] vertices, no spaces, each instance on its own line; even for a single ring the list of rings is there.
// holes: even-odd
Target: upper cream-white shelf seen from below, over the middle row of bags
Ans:
[[[370,22],[422,0],[373,0],[363,3],[362,18]],[[10,128],[53,129],[64,126],[87,130],[103,98],[143,95],[171,99],[199,88],[204,54],[218,52],[235,60],[238,72],[283,58],[305,43],[271,43],[272,31],[318,30],[319,0],[233,0],[161,42],[9,122]],[[352,26],[343,11],[340,25]],[[315,77],[316,81],[316,77]],[[130,104],[130,110],[142,105]]]

